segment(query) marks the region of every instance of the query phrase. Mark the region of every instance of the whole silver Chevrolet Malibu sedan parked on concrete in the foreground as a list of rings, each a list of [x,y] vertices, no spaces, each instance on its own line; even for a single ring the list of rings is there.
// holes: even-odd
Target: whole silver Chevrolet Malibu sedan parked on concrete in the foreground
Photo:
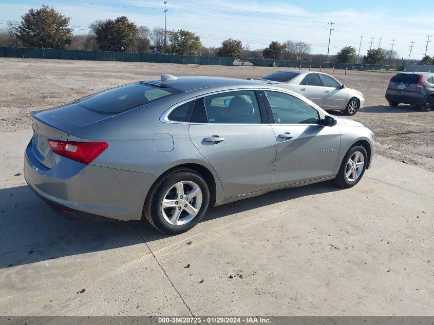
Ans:
[[[208,206],[369,168],[373,133],[262,82],[174,77],[31,113],[24,176],[56,210],[183,233]]]

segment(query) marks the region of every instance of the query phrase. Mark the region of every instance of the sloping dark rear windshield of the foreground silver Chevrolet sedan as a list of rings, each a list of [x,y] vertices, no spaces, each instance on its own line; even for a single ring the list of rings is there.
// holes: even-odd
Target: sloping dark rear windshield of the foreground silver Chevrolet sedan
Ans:
[[[101,114],[118,114],[180,92],[171,87],[135,83],[90,95],[76,104]]]

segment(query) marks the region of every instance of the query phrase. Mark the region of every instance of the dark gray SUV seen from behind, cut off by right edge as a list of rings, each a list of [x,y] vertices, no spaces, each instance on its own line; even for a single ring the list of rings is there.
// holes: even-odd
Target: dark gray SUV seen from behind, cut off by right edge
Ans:
[[[395,74],[386,90],[389,105],[418,105],[423,111],[434,109],[434,73],[403,72]]]

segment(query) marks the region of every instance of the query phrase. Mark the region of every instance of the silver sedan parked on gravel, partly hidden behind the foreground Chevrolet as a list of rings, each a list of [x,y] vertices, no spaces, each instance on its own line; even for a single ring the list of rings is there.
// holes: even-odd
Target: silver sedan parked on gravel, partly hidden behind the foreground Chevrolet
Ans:
[[[365,104],[360,91],[345,87],[327,73],[282,70],[268,74],[260,80],[297,92],[324,110],[340,110],[345,115],[354,115]]]

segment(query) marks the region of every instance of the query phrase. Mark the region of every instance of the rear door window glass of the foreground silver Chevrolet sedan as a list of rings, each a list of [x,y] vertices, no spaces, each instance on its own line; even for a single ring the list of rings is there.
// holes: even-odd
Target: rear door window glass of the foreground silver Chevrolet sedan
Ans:
[[[253,90],[224,92],[200,100],[203,100],[207,123],[262,123],[258,101]]]

